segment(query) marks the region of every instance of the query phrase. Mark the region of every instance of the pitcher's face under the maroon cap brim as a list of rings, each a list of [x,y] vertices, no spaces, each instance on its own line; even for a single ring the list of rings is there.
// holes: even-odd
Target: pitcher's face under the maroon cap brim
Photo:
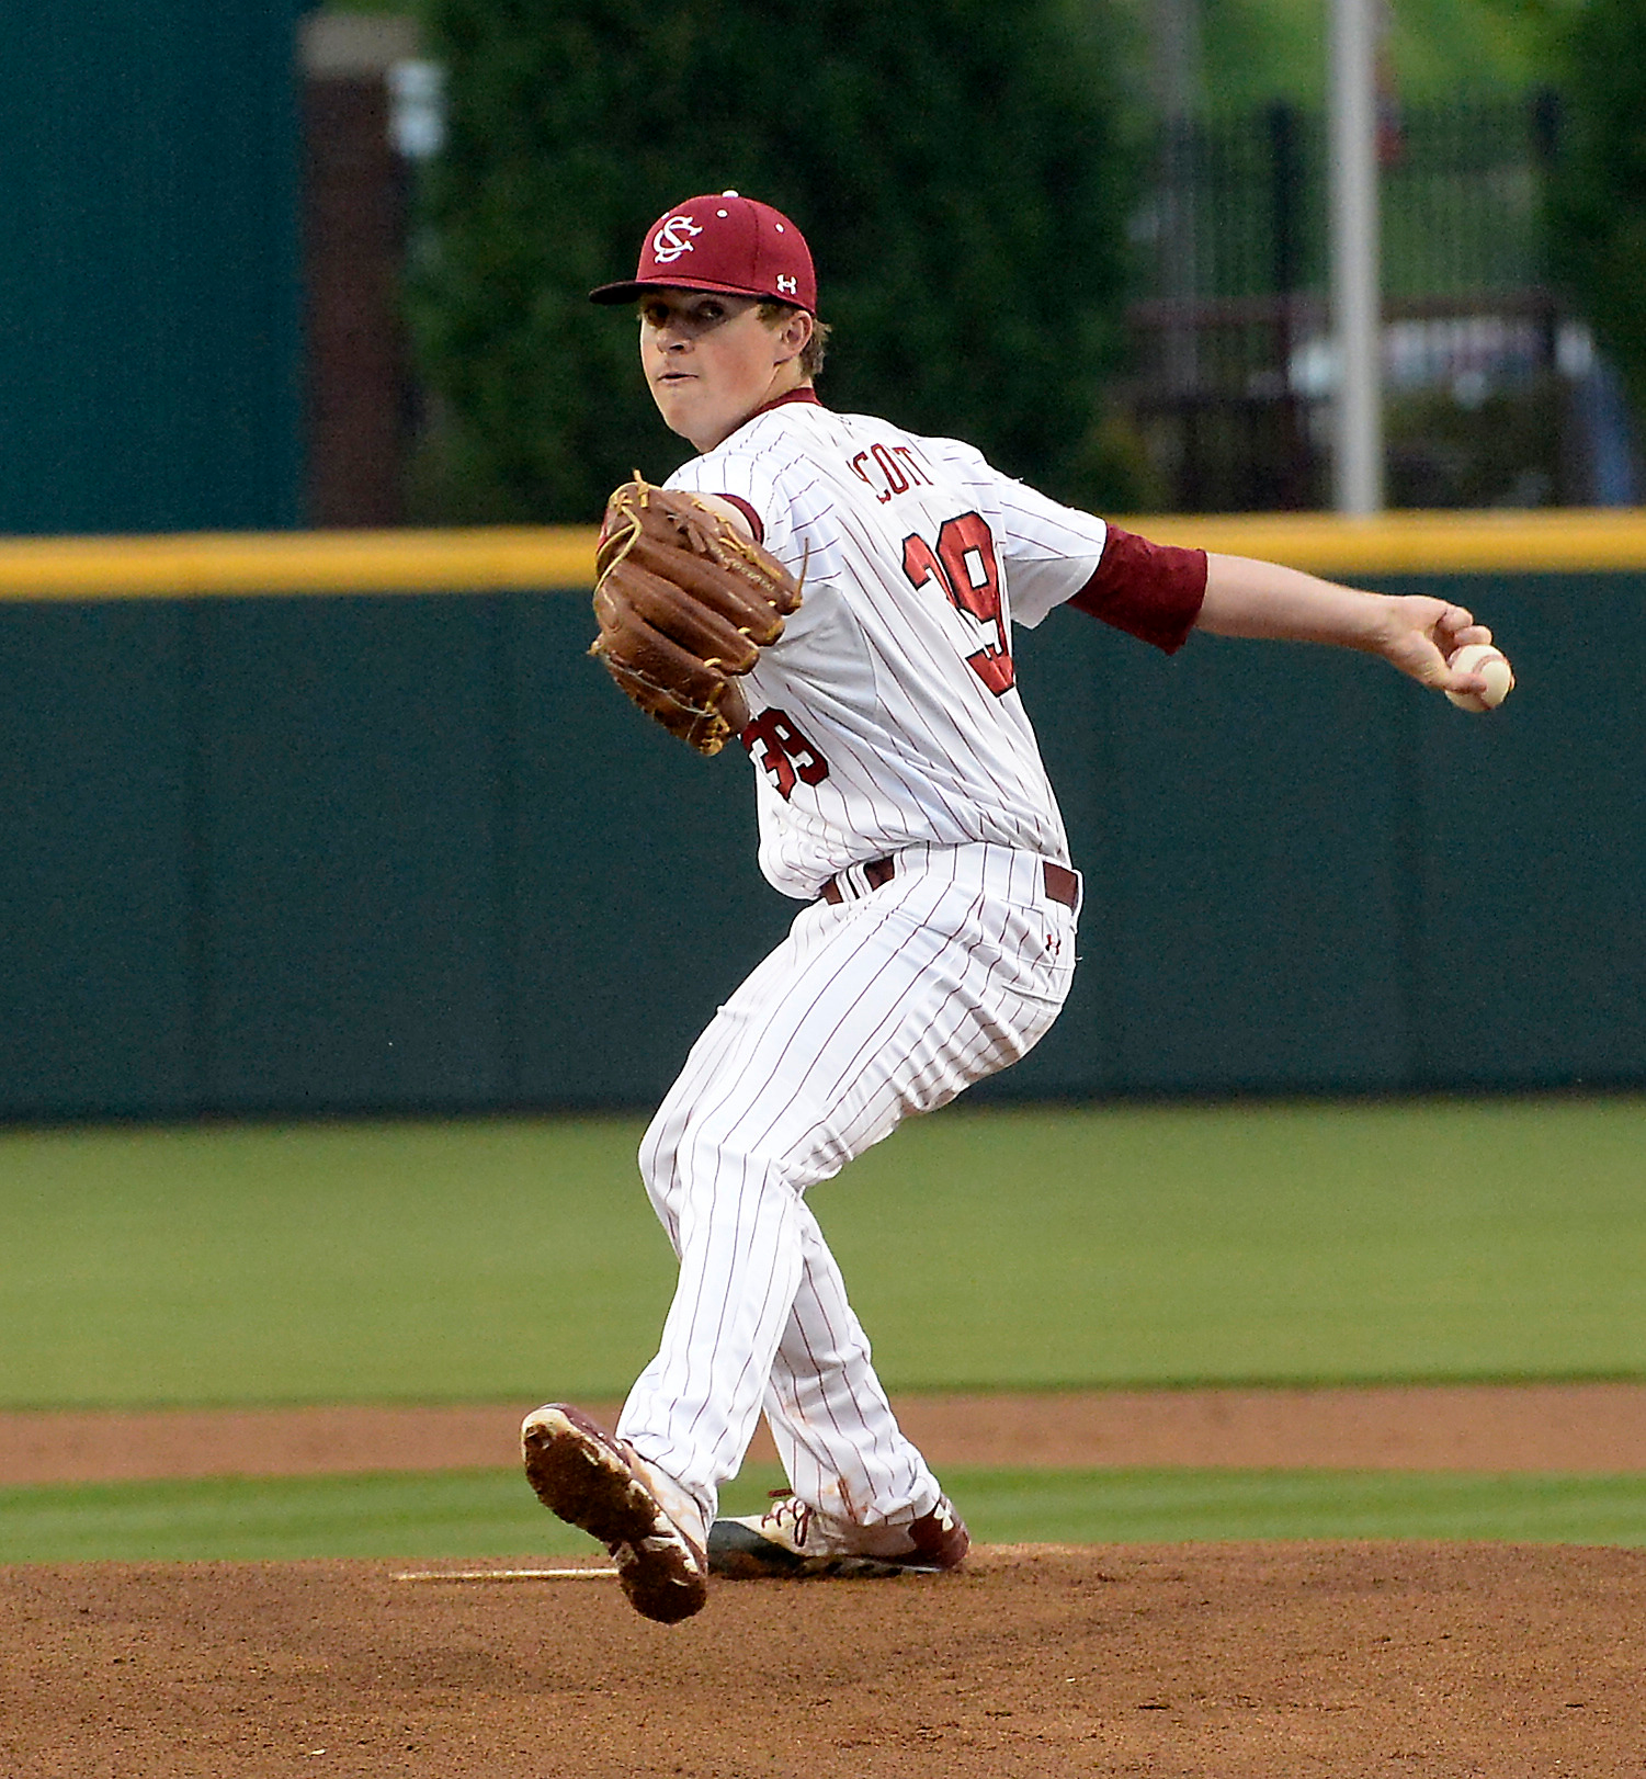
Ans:
[[[756,407],[795,388],[810,333],[810,320],[801,322],[769,327],[753,297],[708,290],[642,297],[641,368],[669,431],[712,450]]]

